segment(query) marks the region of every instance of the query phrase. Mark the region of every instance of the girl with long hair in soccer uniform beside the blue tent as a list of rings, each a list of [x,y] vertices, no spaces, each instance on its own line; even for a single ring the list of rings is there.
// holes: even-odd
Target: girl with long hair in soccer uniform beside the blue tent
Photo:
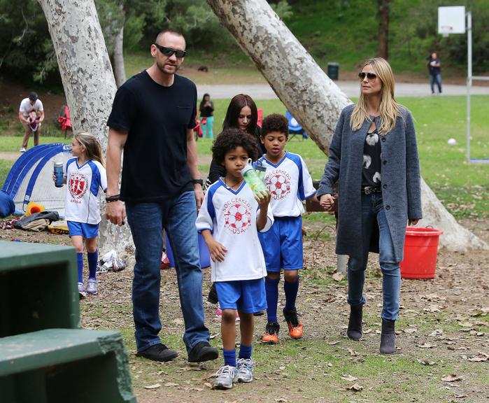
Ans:
[[[66,162],[64,183],[68,185],[64,219],[68,224],[71,243],[78,260],[78,292],[86,297],[83,284],[83,240],[87,249],[88,281],[86,292],[97,294],[97,236],[101,221],[99,189],[107,189],[107,176],[102,149],[95,136],[89,133],[73,135],[73,157]],[[53,176],[54,180],[54,176]]]

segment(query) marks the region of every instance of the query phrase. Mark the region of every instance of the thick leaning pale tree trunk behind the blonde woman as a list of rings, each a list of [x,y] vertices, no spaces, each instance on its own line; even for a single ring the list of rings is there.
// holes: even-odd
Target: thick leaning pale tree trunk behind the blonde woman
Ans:
[[[278,98],[319,148],[329,142],[339,113],[351,101],[330,80],[265,0],[207,0],[222,24],[262,72]],[[420,225],[444,229],[441,245],[451,250],[488,248],[462,228],[423,182]]]

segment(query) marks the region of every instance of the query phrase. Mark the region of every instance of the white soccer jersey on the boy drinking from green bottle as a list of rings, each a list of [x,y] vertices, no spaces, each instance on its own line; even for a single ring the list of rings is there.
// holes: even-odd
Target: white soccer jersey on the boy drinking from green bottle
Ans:
[[[210,229],[213,239],[227,249],[223,262],[211,261],[212,281],[253,280],[267,276],[258,240],[257,215],[258,203],[245,182],[238,190],[233,190],[219,179],[208,188],[195,225],[199,232]],[[262,232],[268,231],[274,222],[270,206],[267,216],[267,225]]]

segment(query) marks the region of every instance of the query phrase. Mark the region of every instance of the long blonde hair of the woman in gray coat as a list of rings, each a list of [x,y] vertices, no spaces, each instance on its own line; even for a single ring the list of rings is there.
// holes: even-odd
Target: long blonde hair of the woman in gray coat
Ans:
[[[390,64],[382,57],[367,60],[367,62],[364,62],[362,69],[368,64],[372,66],[382,85],[381,104],[378,107],[381,113],[381,128],[378,134],[388,134],[395,127],[397,117],[402,116],[402,105],[398,104],[394,99],[394,74],[392,74]],[[360,129],[365,120],[371,121],[371,118],[367,112],[367,99],[363,92],[360,91],[358,103],[353,108],[350,118],[351,128],[353,130]]]

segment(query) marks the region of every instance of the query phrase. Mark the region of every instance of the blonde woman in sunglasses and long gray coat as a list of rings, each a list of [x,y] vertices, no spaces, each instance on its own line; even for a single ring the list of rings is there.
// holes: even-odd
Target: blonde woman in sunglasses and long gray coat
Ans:
[[[365,269],[370,252],[379,253],[383,274],[381,353],[395,351],[406,223],[422,217],[416,133],[411,113],[394,99],[394,77],[378,57],[359,73],[358,104],[341,111],[329,160],[317,192],[323,208],[332,204],[339,181],[336,253],[349,255],[348,337],[362,337]]]

